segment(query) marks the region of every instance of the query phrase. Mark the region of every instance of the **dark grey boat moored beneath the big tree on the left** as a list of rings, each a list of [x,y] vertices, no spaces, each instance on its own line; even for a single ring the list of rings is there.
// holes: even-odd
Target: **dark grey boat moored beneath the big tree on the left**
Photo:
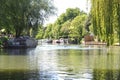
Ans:
[[[35,48],[37,46],[37,40],[31,37],[19,37],[19,38],[11,38],[7,42],[4,43],[4,48],[13,48],[13,49],[21,49],[21,48]]]

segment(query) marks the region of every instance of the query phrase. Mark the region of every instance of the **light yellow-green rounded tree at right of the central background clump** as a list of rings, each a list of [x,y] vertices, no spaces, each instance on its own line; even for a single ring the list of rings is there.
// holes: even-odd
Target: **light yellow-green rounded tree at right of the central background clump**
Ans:
[[[73,38],[73,40],[77,40],[77,43],[80,43],[82,40],[84,33],[85,33],[85,20],[86,20],[87,15],[79,15],[75,17],[70,26],[70,33],[69,37]]]

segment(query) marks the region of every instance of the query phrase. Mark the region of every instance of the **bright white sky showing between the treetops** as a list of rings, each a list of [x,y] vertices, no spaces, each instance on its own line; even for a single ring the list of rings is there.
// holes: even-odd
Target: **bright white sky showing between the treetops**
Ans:
[[[49,23],[54,23],[54,21],[66,11],[67,8],[80,8],[85,12],[89,12],[89,5],[87,0],[54,0],[54,6],[57,8],[57,15],[49,17],[45,21],[45,25]]]

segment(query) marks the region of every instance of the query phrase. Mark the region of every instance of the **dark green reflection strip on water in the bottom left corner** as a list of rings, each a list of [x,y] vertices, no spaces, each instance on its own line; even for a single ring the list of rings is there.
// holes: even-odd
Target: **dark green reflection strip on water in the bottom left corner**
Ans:
[[[40,80],[38,71],[0,71],[0,80]]]

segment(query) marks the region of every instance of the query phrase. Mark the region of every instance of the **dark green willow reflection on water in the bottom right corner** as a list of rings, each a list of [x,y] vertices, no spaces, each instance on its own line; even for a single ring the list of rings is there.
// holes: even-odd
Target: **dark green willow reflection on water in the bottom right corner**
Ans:
[[[94,69],[93,80],[120,80],[120,69]]]

